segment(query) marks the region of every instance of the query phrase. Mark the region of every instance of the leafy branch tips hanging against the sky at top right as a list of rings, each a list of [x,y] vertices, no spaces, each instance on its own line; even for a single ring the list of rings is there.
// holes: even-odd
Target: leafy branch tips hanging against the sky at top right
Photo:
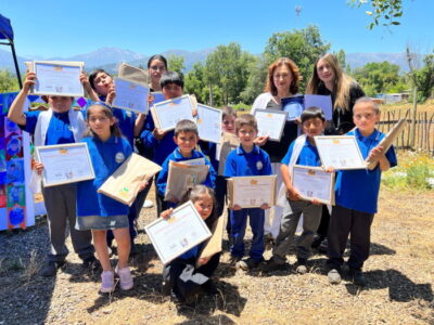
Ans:
[[[403,0],[348,0],[353,6],[368,9],[365,13],[372,17],[369,29],[375,26],[400,25],[403,16]]]

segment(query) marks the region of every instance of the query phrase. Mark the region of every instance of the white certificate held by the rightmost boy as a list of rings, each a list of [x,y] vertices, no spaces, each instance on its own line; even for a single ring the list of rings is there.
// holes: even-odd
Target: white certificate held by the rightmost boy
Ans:
[[[314,139],[322,166],[336,170],[367,168],[354,135],[320,135]]]

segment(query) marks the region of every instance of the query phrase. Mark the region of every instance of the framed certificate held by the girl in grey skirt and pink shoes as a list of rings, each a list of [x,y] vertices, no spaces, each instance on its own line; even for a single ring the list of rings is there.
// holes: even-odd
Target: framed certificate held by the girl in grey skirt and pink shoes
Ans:
[[[35,147],[43,164],[42,184],[54,186],[94,179],[87,143],[56,144]]]

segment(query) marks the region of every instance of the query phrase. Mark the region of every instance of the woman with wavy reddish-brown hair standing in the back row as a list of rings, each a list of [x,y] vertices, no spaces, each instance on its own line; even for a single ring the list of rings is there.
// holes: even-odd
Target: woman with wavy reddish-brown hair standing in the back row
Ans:
[[[268,67],[267,83],[264,93],[258,95],[253,103],[253,115],[255,109],[278,109],[282,110],[288,108],[282,107],[281,100],[284,98],[294,96],[298,92],[298,81],[301,79],[299,69],[295,63],[288,57],[280,57],[276,60]],[[288,120],[285,122],[282,138],[280,142],[268,141],[268,136],[259,136],[255,143],[265,150],[271,159],[272,172],[278,176],[277,188],[280,188],[282,183],[282,176],[280,173],[280,161],[286,154],[286,151],[292,141],[297,138],[297,121]],[[279,234],[280,220],[282,218],[283,209],[279,206],[273,208],[275,217],[272,224],[269,224],[269,212],[265,214],[265,235],[266,237],[276,238]]]

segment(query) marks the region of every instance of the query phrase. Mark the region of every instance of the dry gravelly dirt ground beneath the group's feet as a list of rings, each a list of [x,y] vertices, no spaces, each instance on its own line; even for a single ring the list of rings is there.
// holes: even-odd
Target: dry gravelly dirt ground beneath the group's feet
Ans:
[[[225,252],[216,277],[219,295],[200,296],[190,308],[178,308],[162,294],[162,264],[142,231],[130,291],[100,296],[99,276],[84,272],[75,253],[56,277],[40,276],[48,246],[41,220],[27,231],[0,233],[0,325],[434,324],[433,209],[433,191],[382,188],[365,288],[348,277],[329,285],[321,255],[312,256],[305,275],[292,265],[264,275],[231,269]],[[154,218],[154,208],[143,209],[140,229]]]

